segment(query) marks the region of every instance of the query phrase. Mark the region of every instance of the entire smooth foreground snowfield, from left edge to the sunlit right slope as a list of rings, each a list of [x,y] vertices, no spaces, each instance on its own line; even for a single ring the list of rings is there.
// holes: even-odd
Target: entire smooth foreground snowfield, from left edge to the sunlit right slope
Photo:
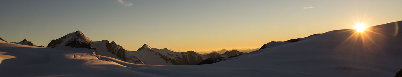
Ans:
[[[0,42],[0,77],[393,77],[402,68],[398,24],[334,30],[207,65],[139,65],[97,59],[91,49]]]

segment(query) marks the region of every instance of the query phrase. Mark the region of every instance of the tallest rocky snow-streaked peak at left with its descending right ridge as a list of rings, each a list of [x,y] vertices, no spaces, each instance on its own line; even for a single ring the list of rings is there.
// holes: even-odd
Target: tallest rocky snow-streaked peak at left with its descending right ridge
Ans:
[[[62,38],[51,40],[47,47],[76,47],[76,48],[88,48],[95,49],[96,54],[120,59],[129,63],[144,64],[137,57],[128,54],[120,45],[117,45],[114,41],[108,40],[92,41],[80,31],[73,32],[63,36]]]

